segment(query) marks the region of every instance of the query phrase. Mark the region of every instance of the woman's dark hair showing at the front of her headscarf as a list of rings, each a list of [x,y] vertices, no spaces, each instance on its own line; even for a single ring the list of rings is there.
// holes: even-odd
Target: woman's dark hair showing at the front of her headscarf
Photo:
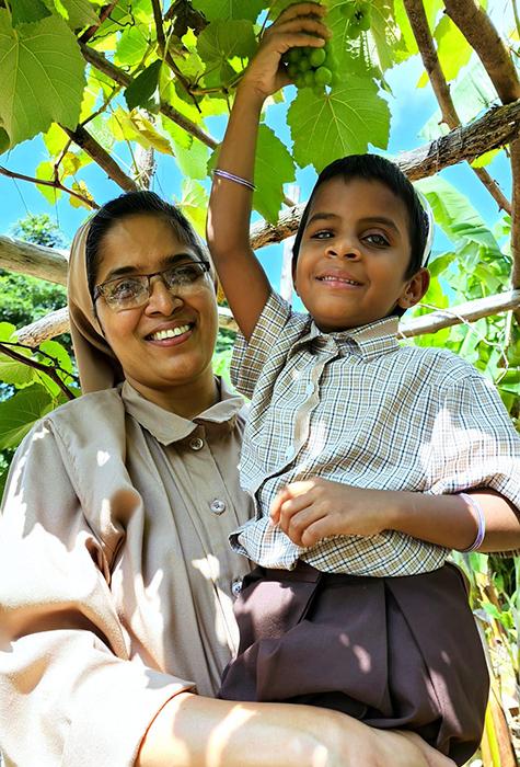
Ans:
[[[167,221],[175,236],[194,250],[200,260],[208,261],[201,241],[193,230],[187,218],[174,205],[161,199],[154,192],[146,190],[127,192],[103,205],[89,224],[85,242],[86,278],[90,295],[94,296],[97,268],[101,257],[101,242],[109,229],[124,218],[136,215],[157,216]]]

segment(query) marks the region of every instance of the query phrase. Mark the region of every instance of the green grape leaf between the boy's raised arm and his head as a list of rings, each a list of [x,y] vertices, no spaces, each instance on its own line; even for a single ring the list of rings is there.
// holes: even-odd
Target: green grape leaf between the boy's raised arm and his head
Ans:
[[[294,163],[285,145],[267,125],[261,125],[256,144],[253,207],[276,224],[284,201],[284,183],[294,181]]]

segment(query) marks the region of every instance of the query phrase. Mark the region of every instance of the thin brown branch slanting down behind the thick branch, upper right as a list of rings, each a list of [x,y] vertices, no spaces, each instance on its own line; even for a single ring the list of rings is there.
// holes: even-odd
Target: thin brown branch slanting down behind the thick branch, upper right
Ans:
[[[423,64],[425,65],[431,88],[439,103],[442,121],[448,125],[450,130],[453,130],[461,125],[461,121],[451,98],[450,87],[446,81],[444,72],[440,66],[434,38],[428,26],[425,7],[421,0],[404,0],[404,7],[419,48]],[[509,201],[489,173],[484,168],[472,168],[472,170],[496,201],[498,208],[511,215],[511,205]]]

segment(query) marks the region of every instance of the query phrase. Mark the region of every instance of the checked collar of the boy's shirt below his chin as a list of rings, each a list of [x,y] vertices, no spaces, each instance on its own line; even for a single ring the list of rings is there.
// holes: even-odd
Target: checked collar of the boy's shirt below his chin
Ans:
[[[384,317],[368,325],[349,328],[335,333],[323,333],[312,320],[309,333],[301,341],[316,340],[324,347],[334,346],[343,355],[354,352],[366,359],[373,359],[398,348],[397,332],[397,317]]]

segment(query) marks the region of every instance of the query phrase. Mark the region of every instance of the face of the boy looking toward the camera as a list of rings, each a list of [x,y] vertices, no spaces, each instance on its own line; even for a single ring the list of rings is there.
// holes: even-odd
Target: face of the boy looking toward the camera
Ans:
[[[357,328],[423,298],[428,272],[405,279],[409,259],[404,203],[379,181],[332,179],[314,197],[294,286],[320,330]]]

